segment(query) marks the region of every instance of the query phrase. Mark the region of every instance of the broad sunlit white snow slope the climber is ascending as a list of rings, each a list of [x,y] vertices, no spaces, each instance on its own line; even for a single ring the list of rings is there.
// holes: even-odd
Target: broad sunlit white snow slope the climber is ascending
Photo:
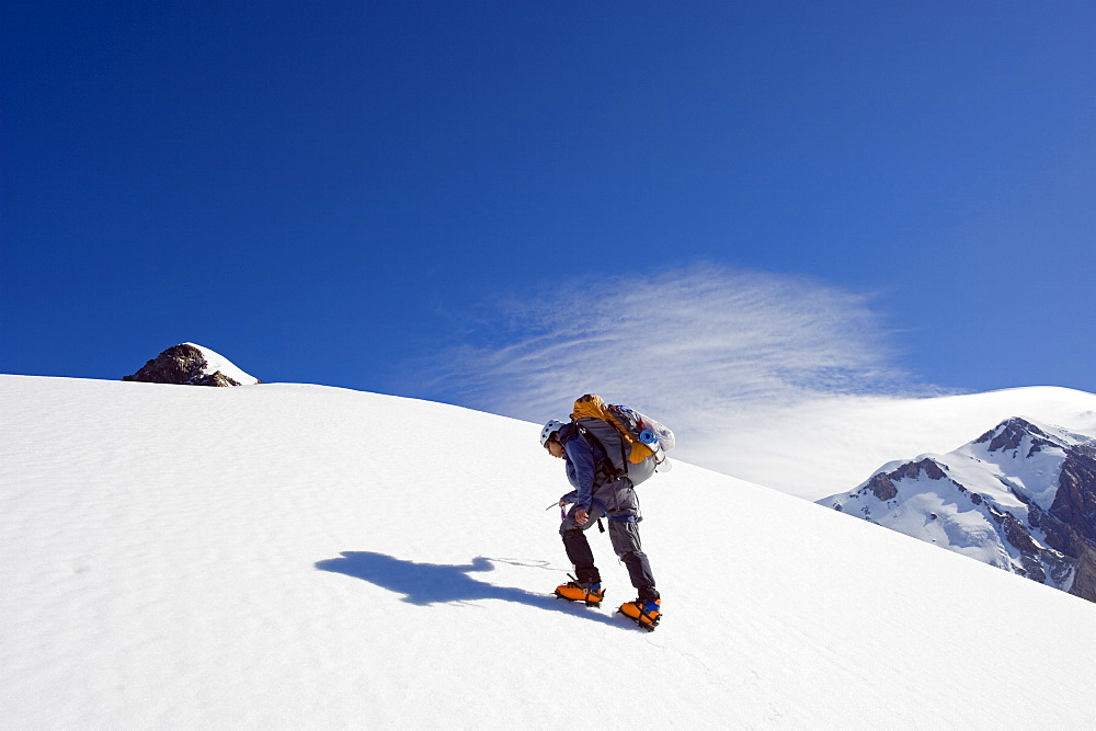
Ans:
[[[1091,727],[1096,605],[678,464],[665,619],[569,570],[538,425],[334,388],[0,376],[0,727]]]

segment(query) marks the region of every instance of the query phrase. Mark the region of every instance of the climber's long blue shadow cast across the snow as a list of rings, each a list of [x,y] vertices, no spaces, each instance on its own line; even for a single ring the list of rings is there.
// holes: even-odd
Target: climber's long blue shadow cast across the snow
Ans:
[[[534,594],[514,586],[495,586],[472,579],[469,574],[493,571],[492,560],[482,556],[471,563],[453,566],[446,563],[415,563],[373,551],[344,551],[342,558],[318,561],[320,571],[342,573],[367,581],[390,592],[403,594],[404,602],[418,606],[501,599],[514,602],[538,609],[563,612],[576,617],[585,617],[614,627],[619,627],[608,616],[584,606],[572,606],[569,602],[547,594]],[[501,559],[500,559],[501,560]],[[513,561],[506,561],[514,563]],[[528,566],[528,564],[521,564]]]

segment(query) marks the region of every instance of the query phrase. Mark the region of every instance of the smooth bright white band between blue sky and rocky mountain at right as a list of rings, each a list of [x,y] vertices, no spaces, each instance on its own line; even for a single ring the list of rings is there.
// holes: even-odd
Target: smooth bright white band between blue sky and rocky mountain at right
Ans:
[[[735,412],[711,434],[678,431],[684,442],[678,454],[815,501],[849,490],[894,459],[951,452],[1012,416],[1093,433],[1096,395],[1040,386],[936,398],[833,396],[770,403]]]

